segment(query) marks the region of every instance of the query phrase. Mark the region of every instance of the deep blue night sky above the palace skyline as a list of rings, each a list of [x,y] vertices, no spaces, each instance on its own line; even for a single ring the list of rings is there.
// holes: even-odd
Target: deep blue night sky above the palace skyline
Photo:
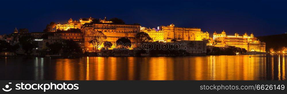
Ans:
[[[213,33],[255,36],[287,32],[286,1],[1,1],[0,34],[14,28],[42,32],[50,22],[69,18],[123,19],[127,24],[197,27]],[[210,35],[211,35],[210,34]],[[212,36],[210,36],[212,37]]]

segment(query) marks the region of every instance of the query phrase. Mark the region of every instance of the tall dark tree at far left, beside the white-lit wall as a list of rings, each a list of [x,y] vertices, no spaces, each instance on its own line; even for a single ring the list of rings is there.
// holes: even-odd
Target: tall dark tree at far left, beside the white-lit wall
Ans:
[[[25,53],[31,51],[32,49],[36,49],[38,47],[38,42],[34,41],[34,37],[32,36],[23,36],[19,38],[19,43],[22,45],[22,49],[25,50]]]

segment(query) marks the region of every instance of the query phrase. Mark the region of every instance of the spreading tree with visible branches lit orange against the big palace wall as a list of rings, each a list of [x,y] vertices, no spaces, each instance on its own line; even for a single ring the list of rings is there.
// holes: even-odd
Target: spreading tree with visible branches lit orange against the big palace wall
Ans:
[[[96,51],[98,51],[98,47],[100,47],[100,45],[102,45],[106,39],[107,37],[104,33],[102,33],[102,31],[92,30],[90,34],[88,34],[88,41],[93,45],[93,50],[94,47],[96,48]]]

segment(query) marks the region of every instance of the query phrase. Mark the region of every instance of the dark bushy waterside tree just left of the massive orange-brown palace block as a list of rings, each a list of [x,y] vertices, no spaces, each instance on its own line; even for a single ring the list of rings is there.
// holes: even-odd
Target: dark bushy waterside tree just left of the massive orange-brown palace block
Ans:
[[[79,46],[78,43],[76,43],[73,40],[66,40],[63,43],[63,52],[67,53],[69,56],[72,55],[72,53],[82,53],[83,50]]]

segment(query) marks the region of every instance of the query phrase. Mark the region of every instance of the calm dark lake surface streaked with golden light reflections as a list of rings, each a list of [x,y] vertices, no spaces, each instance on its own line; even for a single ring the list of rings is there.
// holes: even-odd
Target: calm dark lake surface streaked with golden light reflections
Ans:
[[[286,80],[286,58],[0,57],[0,80]]]

